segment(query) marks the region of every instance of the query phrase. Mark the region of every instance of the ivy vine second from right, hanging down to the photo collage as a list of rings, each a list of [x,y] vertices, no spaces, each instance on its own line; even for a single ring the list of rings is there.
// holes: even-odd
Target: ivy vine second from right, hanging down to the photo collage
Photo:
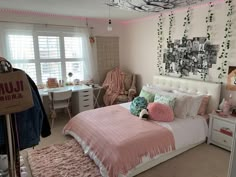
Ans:
[[[213,19],[215,17],[213,13],[214,4],[212,2],[208,3],[208,14],[206,17],[206,24],[207,24],[207,39],[211,40],[212,28],[213,28]]]

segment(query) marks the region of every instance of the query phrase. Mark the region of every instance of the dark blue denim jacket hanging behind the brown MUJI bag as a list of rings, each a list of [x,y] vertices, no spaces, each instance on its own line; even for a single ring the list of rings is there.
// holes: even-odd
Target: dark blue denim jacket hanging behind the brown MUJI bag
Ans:
[[[14,71],[17,70],[18,69],[14,69]],[[27,78],[31,86],[34,106],[26,111],[11,115],[13,119],[13,130],[17,130],[17,133],[14,133],[15,137],[19,140],[20,150],[37,145],[40,141],[40,134],[42,137],[47,137],[51,134],[48,117],[44,110],[37,86],[28,75]],[[2,115],[0,116],[0,153],[2,154],[6,153],[5,144],[7,135],[5,125]]]

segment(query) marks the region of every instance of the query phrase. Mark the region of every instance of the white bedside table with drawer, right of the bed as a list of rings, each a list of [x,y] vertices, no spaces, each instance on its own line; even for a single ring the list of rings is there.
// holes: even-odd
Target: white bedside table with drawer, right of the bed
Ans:
[[[207,144],[214,144],[231,151],[236,118],[210,114]]]

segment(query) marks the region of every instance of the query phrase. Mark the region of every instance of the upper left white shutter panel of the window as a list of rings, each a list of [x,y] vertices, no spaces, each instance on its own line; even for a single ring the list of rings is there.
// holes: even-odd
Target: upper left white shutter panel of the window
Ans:
[[[33,36],[8,35],[9,54],[12,60],[34,59]]]

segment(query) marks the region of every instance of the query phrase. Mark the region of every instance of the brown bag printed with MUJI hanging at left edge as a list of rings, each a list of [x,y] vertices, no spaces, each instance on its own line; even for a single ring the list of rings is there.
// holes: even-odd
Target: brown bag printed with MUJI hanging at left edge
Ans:
[[[24,71],[0,73],[0,115],[25,111],[33,105],[31,88]]]

